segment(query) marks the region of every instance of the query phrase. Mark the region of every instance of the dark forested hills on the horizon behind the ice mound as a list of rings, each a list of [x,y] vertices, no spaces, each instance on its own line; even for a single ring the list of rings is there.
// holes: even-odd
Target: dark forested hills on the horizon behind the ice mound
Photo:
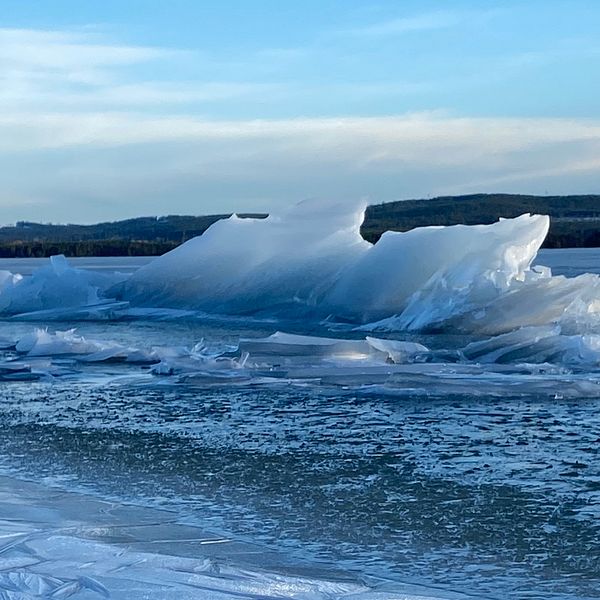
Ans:
[[[407,231],[426,225],[493,223],[499,217],[516,217],[524,212],[550,215],[550,233],[544,244],[547,248],[600,247],[600,195],[472,194],[387,202],[367,208],[362,234],[374,242],[388,229]],[[229,216],[139,217],[96,225],[20,221],[15,226],[0,227],[0,257],[163,254]]]

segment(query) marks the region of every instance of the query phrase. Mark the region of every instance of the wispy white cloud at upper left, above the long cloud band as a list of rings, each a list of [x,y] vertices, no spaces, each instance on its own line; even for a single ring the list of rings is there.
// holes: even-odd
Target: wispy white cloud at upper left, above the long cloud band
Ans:
[[[40,111],[143,110],[276,91],[272,84],[238,81],[144,80],[125,69],[183,57],[190,53],[116,44],[94,31],[0,28],[0,110],[27,109],[34,117]]]

